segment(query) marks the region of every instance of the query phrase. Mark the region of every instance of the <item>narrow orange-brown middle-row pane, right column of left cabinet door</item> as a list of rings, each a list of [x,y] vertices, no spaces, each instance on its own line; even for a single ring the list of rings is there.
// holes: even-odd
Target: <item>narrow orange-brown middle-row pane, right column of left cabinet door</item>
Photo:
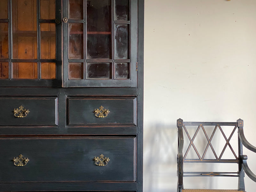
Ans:
[[[56,24],[40,23],[41,59],[56,59]]]

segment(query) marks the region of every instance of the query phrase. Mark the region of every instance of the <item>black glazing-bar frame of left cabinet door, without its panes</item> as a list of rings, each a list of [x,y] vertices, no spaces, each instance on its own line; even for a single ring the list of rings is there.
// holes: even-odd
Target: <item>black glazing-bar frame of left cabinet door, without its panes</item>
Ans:
[[[56,14],[55,20],[44,20],[40,19],[40,0],[36,0],[36,36],[37,36],[37,59],[12,59],[12,4],[11,0],[8,0],[8,19],[0,19],[0,22],[7,22],[8,23],[8,51],[9,56],[8,59],[0,59],[0,62],[7,62],[9,66],[9,78],[8,79],[0,79],[0,86],[25,86],[25,87],[61,87],[62,86],[62,43],[61,43],[61,30],[62,30],[62,23],[58,23],[61,21],[61,1],[56,0]],[[40,23],[47,22],[47,23],[56,23],[56,59],[40,59]],[[36,79],[19,79],[19,78],[12,78],[12,62],[34,62],[37,63],[37,78]],[[54,62],[56,63],[56,78],[55,79],[41,79],[40,76],[40,63],[43,62]]]

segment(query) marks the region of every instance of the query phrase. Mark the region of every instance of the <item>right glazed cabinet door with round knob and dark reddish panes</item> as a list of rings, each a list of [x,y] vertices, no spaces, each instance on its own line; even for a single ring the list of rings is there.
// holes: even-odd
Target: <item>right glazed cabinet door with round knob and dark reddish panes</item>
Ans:
[[[65,87],[137,86],[137,0],[64,0]]]

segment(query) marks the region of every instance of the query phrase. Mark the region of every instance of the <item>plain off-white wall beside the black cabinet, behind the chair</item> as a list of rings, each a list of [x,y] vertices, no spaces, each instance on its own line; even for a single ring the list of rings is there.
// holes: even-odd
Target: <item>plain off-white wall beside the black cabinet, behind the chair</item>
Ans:
[[[144,191],[175,192],[178,118],[241,118],[256,146],[256,1],[145,0],[144,40]],[[237,178],[215,183],[237,188]]]

